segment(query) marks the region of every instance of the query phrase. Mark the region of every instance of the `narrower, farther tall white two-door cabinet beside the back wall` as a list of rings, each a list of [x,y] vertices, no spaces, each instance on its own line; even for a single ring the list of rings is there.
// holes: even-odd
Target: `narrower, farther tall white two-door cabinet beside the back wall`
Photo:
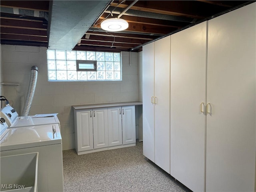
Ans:
[[[170,174],[170,36],[143,46],[143,154]]]

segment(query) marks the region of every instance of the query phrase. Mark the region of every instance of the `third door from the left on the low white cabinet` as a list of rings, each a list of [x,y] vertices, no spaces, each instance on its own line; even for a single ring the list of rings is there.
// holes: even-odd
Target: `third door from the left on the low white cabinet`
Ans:
[[[122,145],[121,107],[108,108],[108,146]]]

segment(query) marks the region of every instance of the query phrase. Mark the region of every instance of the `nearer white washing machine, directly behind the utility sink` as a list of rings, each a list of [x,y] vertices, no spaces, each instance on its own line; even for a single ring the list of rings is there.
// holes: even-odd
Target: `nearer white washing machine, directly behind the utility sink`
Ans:
[[[38,152],[38,192],[63,192],[62,138],[58,124],[8,128],[1,118],[0,156]]]

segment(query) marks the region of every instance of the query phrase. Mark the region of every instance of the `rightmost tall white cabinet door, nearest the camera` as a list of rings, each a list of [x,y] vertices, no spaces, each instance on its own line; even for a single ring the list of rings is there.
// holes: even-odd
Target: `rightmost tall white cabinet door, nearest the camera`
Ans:
[[[254,191],[256,3],[208,24],[206,191]]]

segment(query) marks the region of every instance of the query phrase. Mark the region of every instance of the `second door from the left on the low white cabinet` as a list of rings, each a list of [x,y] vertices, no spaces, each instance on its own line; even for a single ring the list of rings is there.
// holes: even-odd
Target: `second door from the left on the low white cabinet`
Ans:
[[[94,149],[108,147],[108,110],[93,110],[93,143]]]

